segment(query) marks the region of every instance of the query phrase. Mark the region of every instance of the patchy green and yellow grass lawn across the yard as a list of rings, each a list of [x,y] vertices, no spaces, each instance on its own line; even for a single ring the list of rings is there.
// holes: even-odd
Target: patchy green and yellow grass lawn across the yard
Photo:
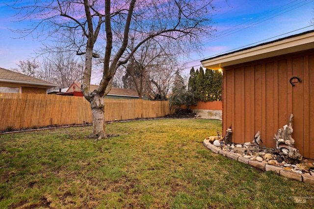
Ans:
[[[211,153],[221,122],[162,119],[0,135],[0,209],[313,208],[314,186]]]

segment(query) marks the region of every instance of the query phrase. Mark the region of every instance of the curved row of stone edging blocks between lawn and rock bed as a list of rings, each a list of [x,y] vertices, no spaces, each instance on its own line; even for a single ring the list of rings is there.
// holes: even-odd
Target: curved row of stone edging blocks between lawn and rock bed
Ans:
[[[213,153],[217,153],[217,154],[226,156],[228,158],[239,161],[241,163],[249,164],[251,166],[254,166],[254,167],[259,168],[259,169],[264,170],[264,171],[274,171],[278,175],[287,177],[289,179],[293,179],[293,180],[296,180],[299,182],[304,182],[304,183],[314,185],[314,176],[312,176],[312,175],[298,174],[298,173],[295,173],[292,171],[285,170],[285,169],[278,167],[278,166],[269,165],[269,164],[262,163],[259,161],[253,161],[253,160],[250,160],[248,158],[244,158],[240,154],[228,152],[226,150],[222,150],[221,148],[214,146],[213,144],[211,144],[209,142],[208,139],[204,139],[203,144],[205,147],[210,149]]]

